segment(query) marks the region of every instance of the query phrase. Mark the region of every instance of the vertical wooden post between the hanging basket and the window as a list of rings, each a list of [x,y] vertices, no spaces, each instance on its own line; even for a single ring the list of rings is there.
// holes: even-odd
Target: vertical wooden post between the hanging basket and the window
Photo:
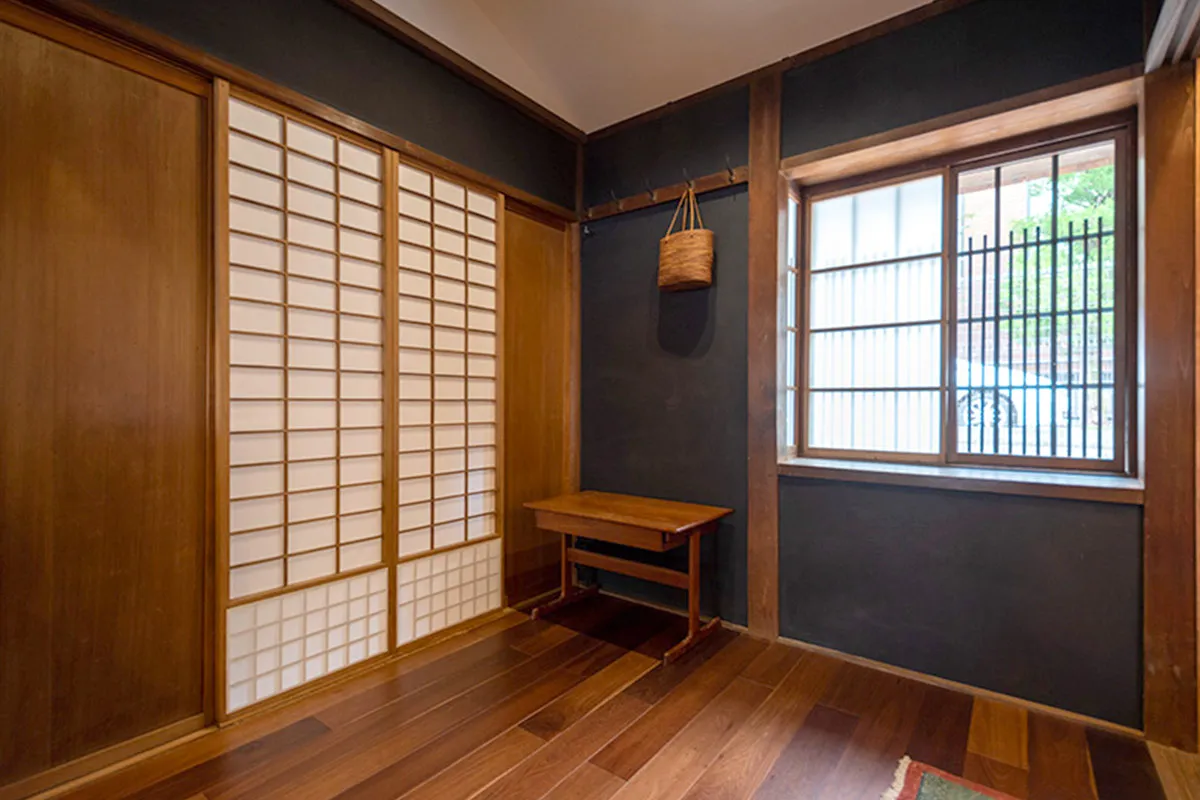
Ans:
[[[779,468],[775,416],[779,273],[787,193],[779,174],[782,77],[750,85],[748,320],[748,606],[750,633],[779,636]]]

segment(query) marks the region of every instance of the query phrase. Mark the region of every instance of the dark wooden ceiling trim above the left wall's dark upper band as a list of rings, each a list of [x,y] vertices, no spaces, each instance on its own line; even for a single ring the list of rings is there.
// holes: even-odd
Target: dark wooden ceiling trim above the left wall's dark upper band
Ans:
[[[395,37],[402,44],[420,52],[426,58],[437,61],[451,72],[455,72],[475,85],[486,89],[542,125],[554,128],[563,136],[575,142],[583,142],[587,139],[587,134],[583,133],[583,131],[571,125],[554,112],[550,110],[504,80],[500,80],[470,59],[454,52],[416,25],[413,25],[398,14],[392,13],[374,0],[335,0],[335,2]]]

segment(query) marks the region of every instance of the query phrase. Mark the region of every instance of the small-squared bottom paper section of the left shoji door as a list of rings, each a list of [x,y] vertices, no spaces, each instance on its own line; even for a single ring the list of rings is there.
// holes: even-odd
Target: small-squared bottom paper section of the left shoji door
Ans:
[[[230,608],[227,706],[236,711],[388,650],[388,571]]]

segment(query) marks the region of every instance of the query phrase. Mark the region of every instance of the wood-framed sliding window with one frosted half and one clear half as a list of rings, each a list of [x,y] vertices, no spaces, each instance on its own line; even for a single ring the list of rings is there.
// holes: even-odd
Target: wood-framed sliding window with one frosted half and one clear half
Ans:
[[[793,452],[1126,471],[1127,126],[790,205]]]

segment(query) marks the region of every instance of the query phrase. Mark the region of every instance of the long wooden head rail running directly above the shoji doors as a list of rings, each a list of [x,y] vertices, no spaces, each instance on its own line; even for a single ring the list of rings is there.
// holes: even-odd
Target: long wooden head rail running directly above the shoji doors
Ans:
[[[248,70],[236,67],[222,59],[184,44],[169,36],[130,22],[124,17],[110,13],[94,6],[86,0],[4,0],[5,5],[35,5],[53,12],[74,25],[86,30],[98,32],[103,36],[118,40],[125,44],[146,52],[158,59],[164,59],[173,65],[180,65],[186,70],[199,72],[206,78],[223,78],[230,84],[247,89],[268,100],[282,103],[290,109],[304,112],[310,116],[319,119],[330,125],[361,136],[385,148],[391,148],[401,155],[416,158],[430,167],[436,167],[455,178],[478,184],[491,191],[499,192],[508,197],[516,198],[522,203],[538,207],[554,217],[574,222],[577,217],[574,210],[545,200],[530,192],[510,186],[478,169],[455,163],[444,156],[439,156],[432,150],[427,150],[418,144],[396,136],[389,131],[376,127],[368,122],[340,112],[331,106],[318,102],[293,89],[282,86],[274,80],[268,80]],[[205,91],[208,90],[205,85]]]

